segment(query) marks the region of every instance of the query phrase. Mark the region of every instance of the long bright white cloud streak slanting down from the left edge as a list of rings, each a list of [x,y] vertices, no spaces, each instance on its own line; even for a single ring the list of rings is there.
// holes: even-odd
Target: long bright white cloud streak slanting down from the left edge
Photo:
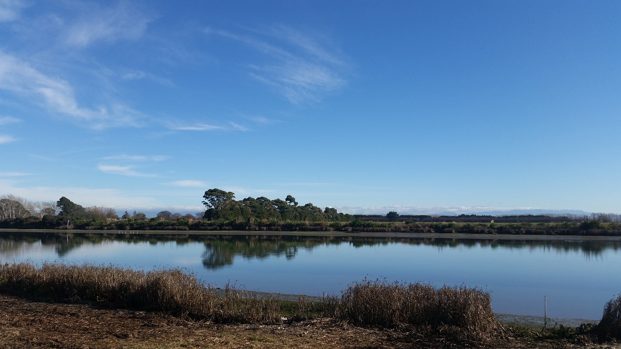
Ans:
[[[142,113],[117,102],[96,109],[80,107],[68,81],[47,76],[29,63],[3,52],[0,52],[0,89],[27,98],[39,97],[51,111],[86,122],[93,129],[137,127],[143,118]]]

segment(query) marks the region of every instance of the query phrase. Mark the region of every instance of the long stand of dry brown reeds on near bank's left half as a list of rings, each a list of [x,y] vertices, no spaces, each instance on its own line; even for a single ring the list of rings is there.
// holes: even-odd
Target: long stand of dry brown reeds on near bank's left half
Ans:
[[[214,322],[275,323],[278,302],[227,289],[218,297],[180,270],[137,271],[117,266],[30,263],[0,265],[0,291],[20,296],[112,303]]]

